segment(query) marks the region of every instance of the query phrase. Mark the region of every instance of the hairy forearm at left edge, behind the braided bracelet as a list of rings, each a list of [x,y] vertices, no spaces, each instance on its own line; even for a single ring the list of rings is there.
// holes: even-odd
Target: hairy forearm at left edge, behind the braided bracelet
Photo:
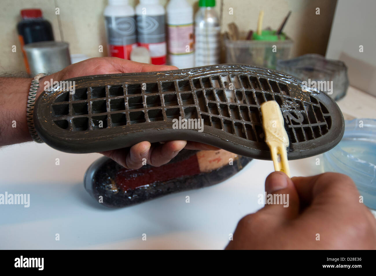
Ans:
[[[26,104],[32,78],[0,78],[0,146],[31,141]]]

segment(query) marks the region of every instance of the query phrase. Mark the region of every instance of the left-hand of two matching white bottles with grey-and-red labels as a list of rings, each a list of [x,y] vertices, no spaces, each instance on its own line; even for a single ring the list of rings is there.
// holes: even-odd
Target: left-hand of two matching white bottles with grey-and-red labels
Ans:
[[[128,0],[108,0],[105,8],[108,55],[130,59],[137,46],[135,10]]]

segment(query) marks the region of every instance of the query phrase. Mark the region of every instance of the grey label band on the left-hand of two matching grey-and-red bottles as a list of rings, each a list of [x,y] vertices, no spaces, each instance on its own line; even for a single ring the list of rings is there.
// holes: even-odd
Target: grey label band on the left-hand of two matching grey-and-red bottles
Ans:
[[[106,16],[107,41],[110,45],[123,46],[136,43],[136,20],[132,16]]]

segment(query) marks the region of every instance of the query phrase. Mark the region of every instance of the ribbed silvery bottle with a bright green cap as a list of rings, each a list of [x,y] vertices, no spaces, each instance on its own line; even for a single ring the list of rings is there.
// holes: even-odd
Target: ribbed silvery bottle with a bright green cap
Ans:
[[[218,64],[220,58],[220,26],[215,0],[200,0],[196,13],[196,66]]]

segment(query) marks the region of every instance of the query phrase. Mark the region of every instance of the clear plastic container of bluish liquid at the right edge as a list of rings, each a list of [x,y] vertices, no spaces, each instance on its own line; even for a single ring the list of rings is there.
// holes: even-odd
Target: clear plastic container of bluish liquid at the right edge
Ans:
[[[324,170],[349,175],[364,204],[376,209],[376,120],[346,120],[341,142],[324,153]]]

